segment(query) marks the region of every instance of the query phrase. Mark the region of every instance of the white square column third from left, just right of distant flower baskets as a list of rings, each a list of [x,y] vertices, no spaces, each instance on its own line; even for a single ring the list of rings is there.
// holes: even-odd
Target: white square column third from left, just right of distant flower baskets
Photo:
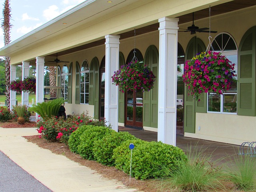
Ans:
[[[36,103],[42,102],[44,102],[44,57],[36,57]]]

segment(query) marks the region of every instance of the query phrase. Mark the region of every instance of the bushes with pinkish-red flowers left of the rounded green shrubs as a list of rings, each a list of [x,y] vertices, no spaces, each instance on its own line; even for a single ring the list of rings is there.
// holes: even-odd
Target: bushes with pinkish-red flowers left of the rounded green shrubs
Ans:
[[[48,141],[60,141],[65,144],[72,132],[83,125],[105,126],[104,121],[91,118],[87,114],[72,116],[64,120],[62,117],[43,118],[37,120],[37,131]]]

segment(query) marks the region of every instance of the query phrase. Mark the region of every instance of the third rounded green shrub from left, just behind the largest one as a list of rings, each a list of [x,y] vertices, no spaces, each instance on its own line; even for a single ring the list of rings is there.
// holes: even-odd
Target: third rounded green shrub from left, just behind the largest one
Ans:
[[[111,132],[94,142],[94,158],[103,165],[114,166],[113,150],[120,146],[122,142],[135,139],[136,137],[128,132]]]

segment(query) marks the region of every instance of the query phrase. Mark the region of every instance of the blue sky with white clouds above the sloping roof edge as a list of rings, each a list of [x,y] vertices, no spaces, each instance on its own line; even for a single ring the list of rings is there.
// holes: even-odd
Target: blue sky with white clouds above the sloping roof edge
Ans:
[[[60,14],[70,10],[85,0],[9,0],[11,7],[11,42],[38,28]],[[0,0],[1,23],[3,21],[4,0]],[[4,46],[1,28],[0,48]]]

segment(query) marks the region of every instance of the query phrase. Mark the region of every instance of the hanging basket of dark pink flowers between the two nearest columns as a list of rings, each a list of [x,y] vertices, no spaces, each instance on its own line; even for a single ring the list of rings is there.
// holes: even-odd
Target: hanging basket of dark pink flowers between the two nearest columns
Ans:
[[[121,66],[121,69],[115,71],[111,78],[112,83],[119,86],[119,91],[123,93],[126,90],[149,91],[156,80],[151,69],[137,60]]]

